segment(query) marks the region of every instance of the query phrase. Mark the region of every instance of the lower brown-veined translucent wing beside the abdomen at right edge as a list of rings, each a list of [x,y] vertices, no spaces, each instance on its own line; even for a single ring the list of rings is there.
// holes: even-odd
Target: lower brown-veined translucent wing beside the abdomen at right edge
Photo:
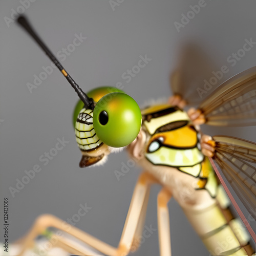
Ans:
[[[214,136],[213,139],[216,142],[214,160],[256,220],[256,143],[227,136]]]

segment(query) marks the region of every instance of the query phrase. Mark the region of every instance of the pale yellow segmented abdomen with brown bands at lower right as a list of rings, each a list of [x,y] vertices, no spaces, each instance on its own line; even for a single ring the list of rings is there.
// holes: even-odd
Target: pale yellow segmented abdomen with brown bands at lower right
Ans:
[[[249,235],[240,219],[229,209],[230,201],[222,185],[218,186],[215,203],[185,214],[211,255],[255,255]]]

